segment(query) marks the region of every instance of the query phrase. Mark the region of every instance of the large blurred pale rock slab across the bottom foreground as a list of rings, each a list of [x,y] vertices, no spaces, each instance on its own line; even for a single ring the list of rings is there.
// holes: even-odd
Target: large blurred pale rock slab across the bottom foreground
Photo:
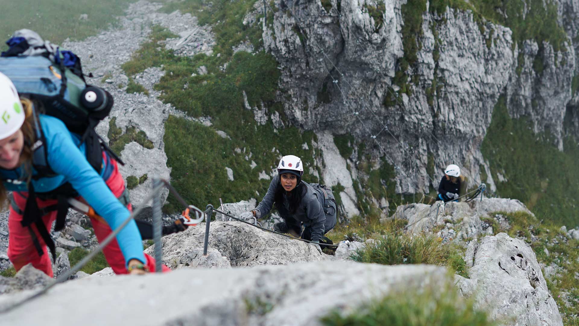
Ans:
[[[57,285],[34,303],[3,314],[2,323],[88,326],[130,320],[131,324],[151,326],[317,326],[319,318],[336,307],[351,311],[391,291],[419,291],[445,280],[446,270],[438,266],[354,262],[179,269],[138,277],[91,277]],[[192,303],[190,298],[202,300]],[[0,296],[0,307],[14,299],[12,294]],[[189,304],[175,309],[175,302]],[[31,307],[34,313],[30,313]]]

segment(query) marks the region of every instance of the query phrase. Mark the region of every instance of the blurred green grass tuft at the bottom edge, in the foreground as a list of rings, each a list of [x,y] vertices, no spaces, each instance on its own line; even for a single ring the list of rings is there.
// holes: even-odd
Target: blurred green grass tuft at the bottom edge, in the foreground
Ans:
[[[462,298],[449,279],[420,289],[391,291],[384,298],[362,304],[348,314],[336,309],[321,318],[325,326],[490,326],[497,325]]]

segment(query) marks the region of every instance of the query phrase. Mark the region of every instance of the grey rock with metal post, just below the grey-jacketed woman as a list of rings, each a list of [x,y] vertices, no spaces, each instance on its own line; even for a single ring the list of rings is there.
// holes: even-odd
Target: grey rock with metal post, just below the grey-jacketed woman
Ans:
[[[163,262],[167,266],[188,262],[193,250],[203,248],[204,235],[205,223],[200,223],[181,233],[163,237]],[[154,248],[147,248],[145,253],[154,255]],[[306,242],[291,240],[237,221],[211,222],[209,248],[217,249],[233,267],[286,265],[334,258],[320,254]]]

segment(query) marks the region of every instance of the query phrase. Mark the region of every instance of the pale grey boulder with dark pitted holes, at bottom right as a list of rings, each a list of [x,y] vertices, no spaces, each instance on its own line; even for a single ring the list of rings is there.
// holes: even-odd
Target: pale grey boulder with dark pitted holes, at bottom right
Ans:
[[[473,243],[470,280],[460,278],[457,284],[463,295],[474,296],[477,305],[488,309],[493,318],[514,318],[518,325],[563,325],[529,245],[506,233]]]

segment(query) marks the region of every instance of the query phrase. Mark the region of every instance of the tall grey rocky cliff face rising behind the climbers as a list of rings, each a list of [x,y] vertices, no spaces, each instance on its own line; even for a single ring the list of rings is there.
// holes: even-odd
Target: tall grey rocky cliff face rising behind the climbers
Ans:
[[[530,20],[536,9],[528,2],[522,16]],[[345,159],[353,179],[368,176],[360,154],[371,153],[375,165],[379,157],[394,165],[397,193],[436,187],[450,162],[471,185],[488,182],[496,190],[481,143],[501,95],[511,117],[528,117],[559,150],[564,120],[577,124],[577,1],[545,4],[555,6],[567,33],[557,44],[492,23],[503,16],[468,10],[475,2],[440,3],[278,0],[270,8],[263,39],[280,63],[285,113],[306,129],[351,132],[357,146]]]

